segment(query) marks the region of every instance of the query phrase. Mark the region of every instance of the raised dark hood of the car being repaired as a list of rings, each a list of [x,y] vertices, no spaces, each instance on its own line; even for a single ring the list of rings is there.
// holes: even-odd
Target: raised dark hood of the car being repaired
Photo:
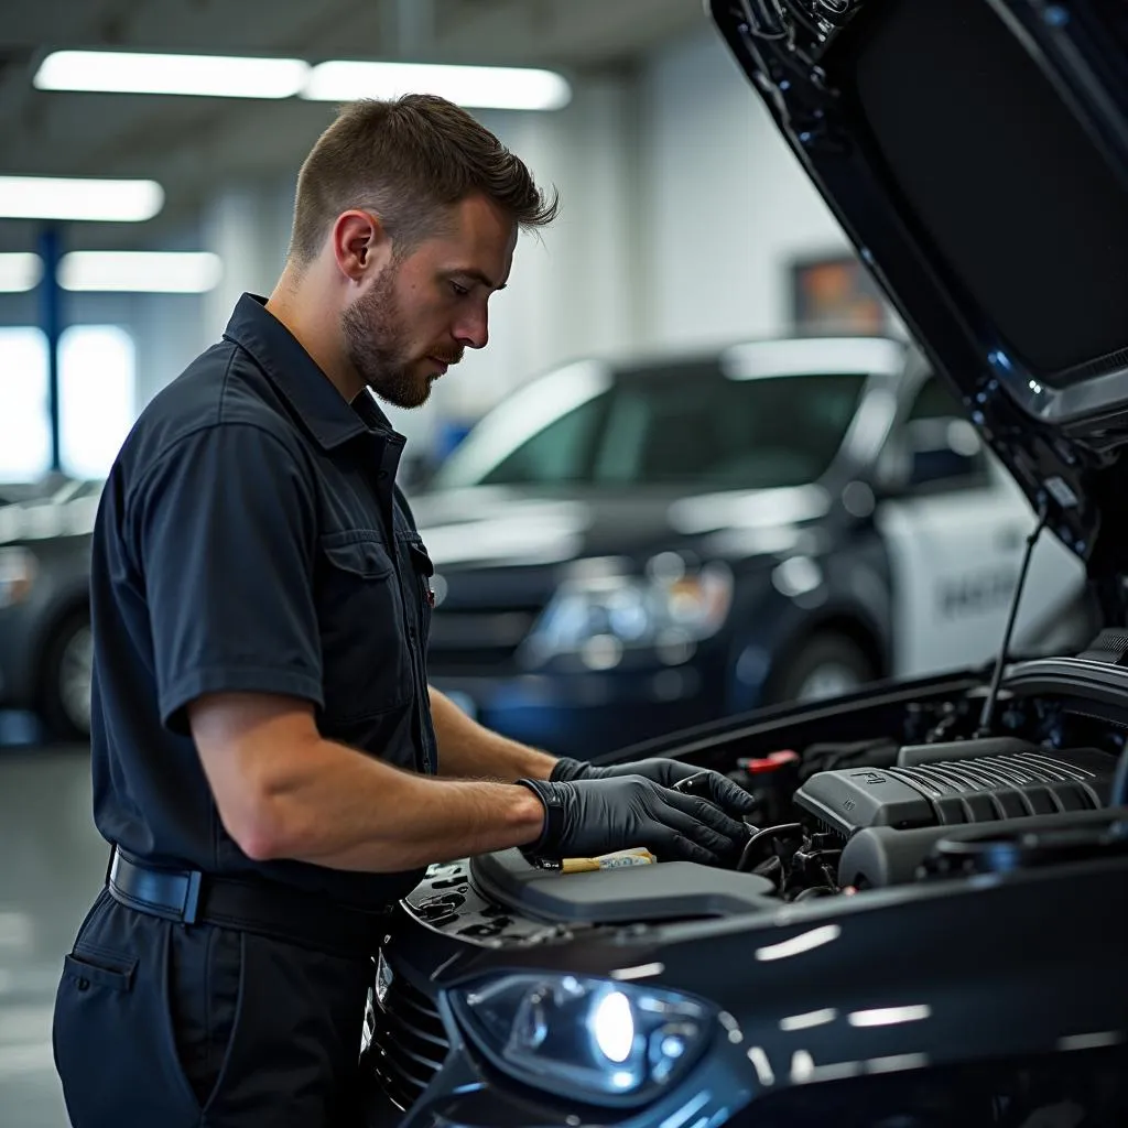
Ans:
[[[707,0],[1107,618],[1128,573],[1128,5]]]

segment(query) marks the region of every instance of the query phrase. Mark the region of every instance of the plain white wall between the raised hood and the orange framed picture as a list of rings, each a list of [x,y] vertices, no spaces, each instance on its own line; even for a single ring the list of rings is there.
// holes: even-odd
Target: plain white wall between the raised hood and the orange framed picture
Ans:
[[[645,335],[688,344],[785,332],[786,266],[846,238],[720,37],[646,69]]]

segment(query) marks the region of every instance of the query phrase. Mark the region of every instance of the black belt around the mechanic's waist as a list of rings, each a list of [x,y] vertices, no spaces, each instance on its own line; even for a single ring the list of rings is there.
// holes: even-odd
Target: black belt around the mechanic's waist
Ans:
[[[106,885],[139,913],[177,924],[211,924],[346,957],[374,955],[393,906],[352,908],[277,882],[238,881],[150,865],[115,846]]]

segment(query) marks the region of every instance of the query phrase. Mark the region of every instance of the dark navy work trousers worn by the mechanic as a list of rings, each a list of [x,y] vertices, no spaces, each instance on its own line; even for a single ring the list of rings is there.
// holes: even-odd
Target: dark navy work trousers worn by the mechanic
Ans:
[[[371,959],[174,924],[103,890],[55,998],[73,1128],[359,1128],[372,979]]]

